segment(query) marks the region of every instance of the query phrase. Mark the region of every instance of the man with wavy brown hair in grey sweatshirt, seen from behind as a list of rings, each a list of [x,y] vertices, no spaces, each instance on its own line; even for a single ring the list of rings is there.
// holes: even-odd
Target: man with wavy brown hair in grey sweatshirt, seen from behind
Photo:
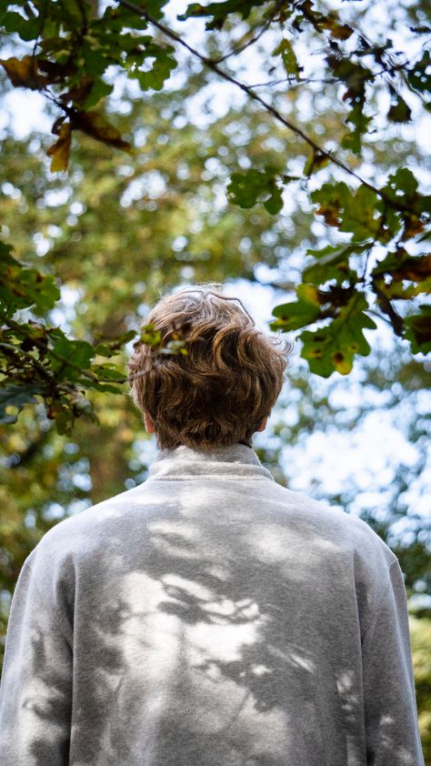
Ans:
[[[51,529],[7,636],[2,766],[420,766],[406,593],[359,519],[251,447],[286,349],[239,301],[165,297],[132,392],[144,484]]]

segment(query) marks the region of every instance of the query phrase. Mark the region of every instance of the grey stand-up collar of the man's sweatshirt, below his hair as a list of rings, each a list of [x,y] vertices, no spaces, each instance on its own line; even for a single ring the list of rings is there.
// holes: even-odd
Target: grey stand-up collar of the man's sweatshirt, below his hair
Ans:
[[[161,449],[149,469],[150,479],[219,476],[220,478],[271,479],[256,452],[245,444],[213,449],[190,449],[181,445]]]

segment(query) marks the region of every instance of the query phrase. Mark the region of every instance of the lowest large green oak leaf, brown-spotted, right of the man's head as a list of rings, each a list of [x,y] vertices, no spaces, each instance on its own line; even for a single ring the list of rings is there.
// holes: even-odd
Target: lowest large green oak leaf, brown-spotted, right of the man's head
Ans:
[[[327,327],[301,333],[304,344],[301,357],[308,361],[311,372],[322,378],[329,378],[334,371],[348,375],[355,354],[363,357],[369,354],[363,329],[375,329],[376,323],[367,316],[366,308],[366,297],[356,293]]]

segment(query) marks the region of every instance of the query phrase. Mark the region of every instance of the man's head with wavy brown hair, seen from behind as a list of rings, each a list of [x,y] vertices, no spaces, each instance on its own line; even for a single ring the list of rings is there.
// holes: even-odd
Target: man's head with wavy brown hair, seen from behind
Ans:
[[[135,404],[160,449],[250,445],[283,385],[286,343],[266,337],[238,298],[211,286],[162,298],[146,322],[163,345],[176,332],[187,349],[167,356],[138,342],[129,361]]]

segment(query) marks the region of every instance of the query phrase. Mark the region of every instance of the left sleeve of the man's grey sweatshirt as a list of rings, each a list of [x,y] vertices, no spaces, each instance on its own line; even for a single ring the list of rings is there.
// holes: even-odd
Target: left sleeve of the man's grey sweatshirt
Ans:
[[[12,601],[0,687],[2,766],[65,766],[71,699],[71,640],[27,559]]]

